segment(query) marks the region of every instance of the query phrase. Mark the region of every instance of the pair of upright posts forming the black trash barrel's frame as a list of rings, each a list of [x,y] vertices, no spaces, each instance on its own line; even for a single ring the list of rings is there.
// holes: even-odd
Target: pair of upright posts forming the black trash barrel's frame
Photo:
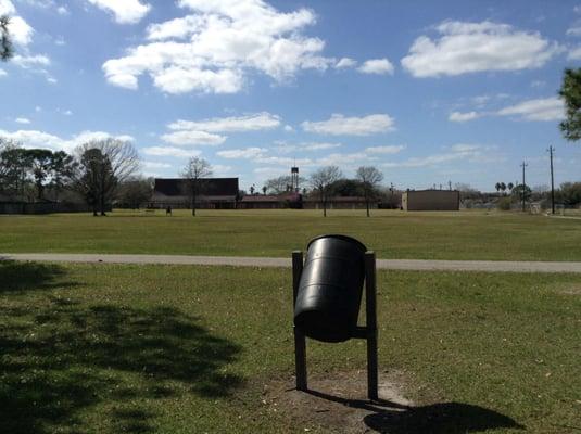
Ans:
[[[292,252],[292,309],[299,294],[299,283],[303,272],[303,252]],[[366,324],[358,326],[353,332],[352,339],[365,339],[367,341],[367,396],[371,400],[378,400],[378,363],[377,363],[377,281],[376,281],[376,254],[372,251],[365,253],[365,310]],[[307,391],[306,372],[306,337],[304,333],[293,326],[294,332],[294,363],[296,374],[296,390]]]

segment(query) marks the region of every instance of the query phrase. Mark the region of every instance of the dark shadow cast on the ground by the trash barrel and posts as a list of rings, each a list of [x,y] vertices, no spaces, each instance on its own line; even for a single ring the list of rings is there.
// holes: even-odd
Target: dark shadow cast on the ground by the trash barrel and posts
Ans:
[[[364,418],[364,423],[378,433],[463,434],[502,427],[525,429],[507,416],[470,404],[438,403],[414,407],[382,399],[371,403],[362,399],[345,399],[316,391],[307,393],[349,407],[371,411]]]

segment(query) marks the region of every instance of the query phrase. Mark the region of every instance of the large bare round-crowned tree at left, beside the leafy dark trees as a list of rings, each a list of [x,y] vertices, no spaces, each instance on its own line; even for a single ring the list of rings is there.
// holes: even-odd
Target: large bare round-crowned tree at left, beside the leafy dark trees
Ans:
[[[105,214],[110,202],[119,186],[139,169],[139,157],[135,146],[117,139],[96,140],[81,144],[76,150],[77,165],[74,186],[87,203]]]

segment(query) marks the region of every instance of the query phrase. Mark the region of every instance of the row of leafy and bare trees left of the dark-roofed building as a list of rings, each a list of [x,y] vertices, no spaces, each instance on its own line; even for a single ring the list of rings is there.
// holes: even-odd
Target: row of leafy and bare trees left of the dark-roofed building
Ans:
[[[0,138],[0,194],[4,201],[85,201],[93,215],[106,215],[113,200],[125,205],[148,201],[151,180],[137,176],[135,146],[105,139],[64,151],[26,149]]]

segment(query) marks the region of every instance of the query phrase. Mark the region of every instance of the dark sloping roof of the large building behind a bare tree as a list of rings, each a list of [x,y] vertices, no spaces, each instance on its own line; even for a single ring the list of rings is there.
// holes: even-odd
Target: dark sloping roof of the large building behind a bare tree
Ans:
[[[153,193],[165,196],[184,196],[188,191],[188,179],[155,178]],[[200,195],[236,196],[238,194],[238,178],[200,178]]]

